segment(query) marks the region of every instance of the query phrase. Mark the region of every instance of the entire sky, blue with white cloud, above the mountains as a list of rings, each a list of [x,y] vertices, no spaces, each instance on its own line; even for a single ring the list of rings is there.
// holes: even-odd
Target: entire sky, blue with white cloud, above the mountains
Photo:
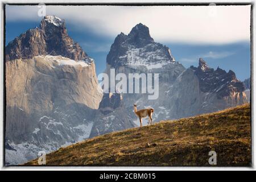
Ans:
[[[30,9],[30,11],[26,11],[26,8]],[[152,38],[154,38],[156,42],[168,46],[171,49],[172,55],[174,55],[176,61],[179,61],[181,64],[183,64],[185,68],[188,68],[191,65],[197,66],[199,57],[203,57],[203,59],[207,61],[210,67],[216,69],[219,66],[226,71],[231,69],[236,73],[237,78],[240,80],[244,80],[245,78],[250,77],[250,23],[248,23],[248,21],[250,22],[250,16],[248,16],[249,13],[247,12],[250,9],[248,8],[243,10],[245,11],[243,14],[247,14],[247,16],[242,18],[236,17],[235,14],[232,14],[232,12],[236,11],[236,9],[232,11],[228,9],[229,12],[227,13],[227,9],[218,10],[217,14],[221,16],[216,18],[216,20],[213,20],[210,16],[210,21],[209,19],[200,19],[200,16],[195,15],[192,20],[195,20],[196,23],[201,22],[201,24],[195,25],[200,26],[199,29],[196,29],[198,27],[190,28],[180,25],[181,22],[191,22],[191,19],[188,19],[188,17],[190,18],[191,14],[189,14],[190,16],[185,16],[180,13],[180,18],[177,17],[179,18],[180,23],[176,22],[175,24],[174,22],[176,26],[175,28],[173,27],[174,25],[168,27],[165,24],[165,27],[161,28],[160,26],[162,24],[155,26],[156,23],[154,23],[154,20],[152,20],[152,18],[147,19],[148,16],[146,16],[149,15],[148,12],[150,12],[151,15],[154,11],[157,11],[159,14],[159,10],[157,9],[145,9],[142,11],[138,7],[135,9],[133,9],[133,7],[126,7],[123,9],[122,7],[122,11],[119,9],[115,10],[115,13],[112,13],[112,15],[110,13],[112,10],[109,10],[106,6],[101,7],[100,10],[93,9],[92,7],[89,7],[88,9],[88,7],[86,7],[87,10],[90,11],[90,17],[84,18],[85,16],[80,17],[79,14],[72,14],[71,16],[71,13],[74,11],[77,13],[79,10],[83,15],[84,13],[82,12],[84,10],[82,7],[80,7],[79,10],[73,9],[73,7],[69,7],[66,12],[66,14],[69,16],[62,13],[64,8],[67,9],[63,6],[58,7],[57,9],[56,7],[52,7],[52,9],[48,8],[47,10],[49,13],[47,14],[53,14],[51,11],[54,10],[53,12],[55,15],[65,19],[68,34],[80,44],[80,46],[86,53],[88,53],[90,57],[96,61],[97,74],[103,72],[105,69],[106,55],[109,52],[110,46],[113,43],[115,36],[117,36],[117,34],[119,34],[121,31],[125,32],[125,34],[128,34],[131,28],[135,26],[135,24],[143,23],[146,24],[148,28],[150,28],[150,34]],[[41,17],[35,15],[36,11],[38,11],[38,8],[36,7],[6,7],[6,44],[29,28],[39,26]],[[106,20],[101,16],[96,15],[98,11],[101,11],[102,14],[106,13],[110,17],[113,17],[113,21],[109,19]],[[160,10],[160,12],[163,11],[164,10]],[[184,14],[186,14],[187,11],[191,11],[191,9],[185,9],[183,11]],[[196,9],[195,12],[197,11],[204,12],[205,9]],[[117,16],[117,14],[120,12],[122,12],[122,15],[126,13],[129,16],[131,16],[130,13],[135,14],[138,12],[142,17],[142,13],[144,13],[145,17],[144,19],[142,18],[136,20],[136,16],[135,20],[133,19],[125,24],[122,24],[120,23],[122,19],[115,19],[115,16]],[[169,13],[170,9],[168,9],[166,12]],[[180,9],[177,12],[180,12]],[[192,13],[196,14],[195,12]],[[95,13],[95,16],[92,15],[93,13]],[[127,15],[123,16],[124,18],[127,18]],[[77,17],[80,17],[81,19]],[[230,23],[233,21],[232,17],[238,22]],[[129,19],[130,18],[131,17],[129,17]],[[162,17],[159,16],[159,18]],[[227,19],[227,22],[220,21],[220,19],[224,18]],[[106,21],[109,22],[104,24],[101,22],[101,20],[104,23]],[[156,21],[159,22],[157,19]],[[216,27],[212,25],[214,24],[214,21],[217,22],[215,22],[214,25]],[[227,23],[229,24],[226,25]],[[101,27],[102,24],[104,25],[103,29]],[[240,27],[238,27],[237,24],[239,24]],[[186,24],[185,26],[188,25]],[[168,31],[164,31],[168,28]],[[159,32],[161,32],[161,34]]]

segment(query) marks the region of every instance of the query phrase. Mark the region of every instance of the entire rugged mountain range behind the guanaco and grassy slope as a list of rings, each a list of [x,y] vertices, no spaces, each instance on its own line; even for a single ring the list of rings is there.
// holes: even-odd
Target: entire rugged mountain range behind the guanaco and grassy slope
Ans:
[[[159,122],[249,102],[245,84],[233,71],[209,68],[201,58],[198,67],[184,68],[142,23],[128,35],[117,35],[105,73],[159,73],[156,100],[148,100],[148,94],[103,93],[94,60],[56,16],[45,16],[39,27],[5,50],[7,165],[34,159],[39,151],[136,127],[135,103],[138,109],[154,108],[153,121]]]

